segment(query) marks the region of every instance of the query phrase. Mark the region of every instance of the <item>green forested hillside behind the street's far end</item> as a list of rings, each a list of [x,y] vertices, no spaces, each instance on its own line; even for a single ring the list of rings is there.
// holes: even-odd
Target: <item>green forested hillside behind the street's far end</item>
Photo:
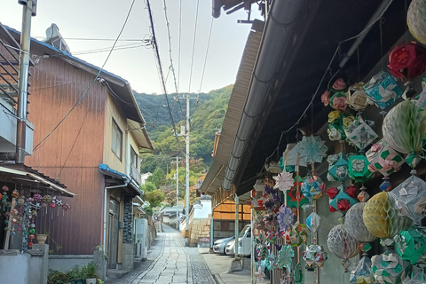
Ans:
[[[199,94],[199,101],[191,99],[191,138],[190,138],[190,186],[193,199],[194,185],[197,180],[209,170],[213,161],[211,151],[217,130],[222,129],[233,85],[225,88]],[[186,94],[181,94],[180,97]],[[169,96],[170,109],[176,123],[177,133],[180,126],[185,126],[185,99],[177,103]],[[192,97],[196,96],[192,94]],[[176,173],[176,164],[172,162],[177,155],[181,157],[179,164],[179,198],[185,198],[185,138],[178,137],[182,152],[177,146],[177,139],[172,135],[169,110],[163,95],[147,95],[135,93],[138,106],[146,120],[146,129],[154,143],[153,154],[141,154],[141,172],[151,172],[154,176],[148,179],[143,190],[146,198],[153,205],[158,205],[165,199],[167,203],[176,201],[176,180],[171,178]]]

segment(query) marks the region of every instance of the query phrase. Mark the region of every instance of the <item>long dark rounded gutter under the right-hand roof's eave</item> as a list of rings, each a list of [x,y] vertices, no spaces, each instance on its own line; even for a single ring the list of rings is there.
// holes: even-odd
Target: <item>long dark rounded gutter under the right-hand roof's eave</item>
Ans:
[[[280,70],[281,59],[295,40],[293,33],[301,18],[305,1],[275,0],[264,27],[264,35],[257,54],[256,65],[242,110],[240,125],[233,142],[222,187],[231,189],[241,165],[241,159],[253,134],[269,90]]]

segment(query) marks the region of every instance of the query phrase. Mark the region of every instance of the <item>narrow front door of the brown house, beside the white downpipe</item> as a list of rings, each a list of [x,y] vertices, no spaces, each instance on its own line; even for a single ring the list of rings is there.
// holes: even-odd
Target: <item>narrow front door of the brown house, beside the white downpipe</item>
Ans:
[[[109,201],[109,242],[108,242],[108,266],[117,268],[118,256],[118,213],[120,206],[117,201]]]

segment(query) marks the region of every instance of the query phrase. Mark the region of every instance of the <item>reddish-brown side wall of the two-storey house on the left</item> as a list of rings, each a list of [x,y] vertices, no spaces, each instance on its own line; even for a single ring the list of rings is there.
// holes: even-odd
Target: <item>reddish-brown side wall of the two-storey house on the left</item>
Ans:
[[[31,53],[43,55],[35,49]],[[42,58],[31,71],[28,119],[35,125],[36,146],[75,105],[95,76],[57,57]],[[106,93],[105,87],[94,83],[43,146],[26,159],[28,166],[51,177],[58,177],[63,167],[59,181],[78,194],[64,199],[71,204],[65,217],[37,217],[46,223],[44,228],[39,226],[40,232],[49,231],[62,246],[59,254],[91,254],[91,248],[102,244],[104,180],[99,163],[103,159]]]

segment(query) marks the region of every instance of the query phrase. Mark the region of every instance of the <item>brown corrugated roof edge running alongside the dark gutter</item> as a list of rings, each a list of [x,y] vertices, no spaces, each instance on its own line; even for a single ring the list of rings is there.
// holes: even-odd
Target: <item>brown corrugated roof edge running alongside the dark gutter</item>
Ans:
[[[261,39],[261,31],[250,31],[246,47],[242,54],[237,78],[233,86],[231,99],[229,100],[228,110],[225,114],[215,159],[201,185],[201,193],[213,195],[222,185],[222,181],[225,177],[226,164],[228,163],[229,155],[233,148],[233,141],[235,140],[235,135],[240,124],[242,109],[246,102],[248,85],[255,66]]]

